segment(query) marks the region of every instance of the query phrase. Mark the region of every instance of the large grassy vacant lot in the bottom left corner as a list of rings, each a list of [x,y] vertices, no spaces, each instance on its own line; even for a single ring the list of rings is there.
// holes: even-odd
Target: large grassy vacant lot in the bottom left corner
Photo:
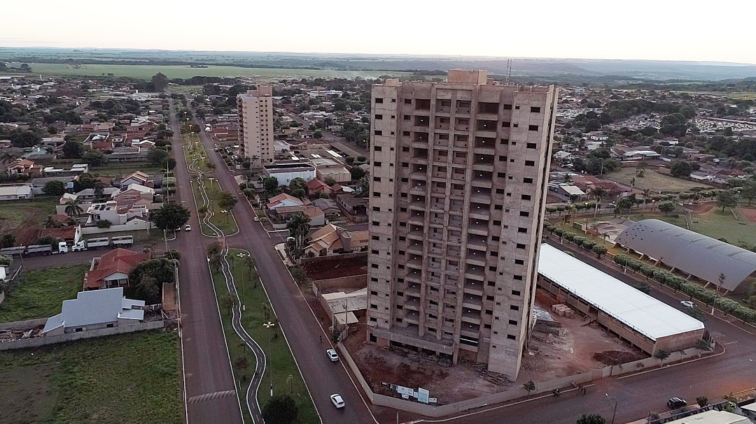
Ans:
[[[0,423],[181,424],[180,361],[163,330],[0,352]]]

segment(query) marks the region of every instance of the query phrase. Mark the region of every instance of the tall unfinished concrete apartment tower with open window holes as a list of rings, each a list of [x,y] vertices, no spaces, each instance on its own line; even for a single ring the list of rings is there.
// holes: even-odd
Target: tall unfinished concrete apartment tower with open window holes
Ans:
[[[516,379],[557,90],[485,71],[373,86],[367,337]]]

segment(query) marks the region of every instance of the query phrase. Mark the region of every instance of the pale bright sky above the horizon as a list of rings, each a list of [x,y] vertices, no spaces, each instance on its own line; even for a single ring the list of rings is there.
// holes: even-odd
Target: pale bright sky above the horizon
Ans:
[[[753,0],[3,3],[2,47],[756,63]]]

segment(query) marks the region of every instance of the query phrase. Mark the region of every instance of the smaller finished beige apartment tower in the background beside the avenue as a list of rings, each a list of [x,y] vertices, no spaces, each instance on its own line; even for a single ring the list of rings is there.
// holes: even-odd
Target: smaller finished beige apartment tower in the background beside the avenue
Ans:
[[[239,147],[245,158],[258,164],[274,160],[273,88],[260,86],[237,96],[239,114]],[[255,162],[253,161],[253,162]]]

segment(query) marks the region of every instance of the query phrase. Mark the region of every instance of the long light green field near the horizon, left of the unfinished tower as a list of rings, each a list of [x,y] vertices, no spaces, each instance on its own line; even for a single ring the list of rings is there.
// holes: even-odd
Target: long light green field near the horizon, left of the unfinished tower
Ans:
[[[150,79],[157,72],[163,72],[168,78],[191,78],[194,76],[237,77],[256,76],[262,79],[280,78],[377,78],[380,75],[407,75],[407,72],[389,71],[336,71],[330,69],[275,69],[243,68],[240,66],[213,66],[191,68],[188,65],[81,65],[76,68],[64,63],[29,63],[33,75],[54,76],[107,76]]]

